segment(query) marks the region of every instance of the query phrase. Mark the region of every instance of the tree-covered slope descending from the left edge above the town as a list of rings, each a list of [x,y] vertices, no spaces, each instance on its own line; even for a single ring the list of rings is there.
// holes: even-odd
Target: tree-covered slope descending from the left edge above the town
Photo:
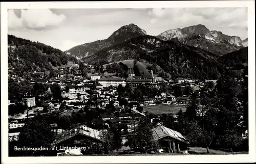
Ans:
[[[52,66],[65,65],[69,61],[77,63],[76,58],[59,49],[8,35],[8,67],[14,68],[16,73],[52,70]]]

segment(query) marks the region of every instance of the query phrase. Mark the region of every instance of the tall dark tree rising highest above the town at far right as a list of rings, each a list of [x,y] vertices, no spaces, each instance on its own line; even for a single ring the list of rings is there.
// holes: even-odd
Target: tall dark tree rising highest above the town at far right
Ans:
[[[241,114],[237,102],[237,81],[232,75],[222,75],[217,81],[217,95],[220,98],[218,107],[218,121],[216,144],[226,148],[236,147],[241,135],[239,121]]]

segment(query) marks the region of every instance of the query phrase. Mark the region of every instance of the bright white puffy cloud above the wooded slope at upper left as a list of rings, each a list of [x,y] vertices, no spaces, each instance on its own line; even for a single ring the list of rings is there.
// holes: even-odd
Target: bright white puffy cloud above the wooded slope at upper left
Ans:
[[[17,17],[13,9],[8,10],[9,30],[46,30],[60,25],[66,19],[65,15],[54,14],[49,9],[27,9],[20,10]]]

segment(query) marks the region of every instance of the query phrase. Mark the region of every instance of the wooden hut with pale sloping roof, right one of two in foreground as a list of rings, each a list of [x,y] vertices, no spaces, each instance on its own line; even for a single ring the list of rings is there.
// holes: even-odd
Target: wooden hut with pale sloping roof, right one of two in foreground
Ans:
[[[160,146],[160,149],[167,153],[187,153],[189,142],[178,131],[169,129],[165,126],[153,128],[153,137]]]

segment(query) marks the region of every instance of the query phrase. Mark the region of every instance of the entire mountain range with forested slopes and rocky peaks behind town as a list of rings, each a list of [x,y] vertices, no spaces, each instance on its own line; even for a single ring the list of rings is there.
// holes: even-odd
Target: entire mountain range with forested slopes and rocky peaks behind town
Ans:
[[[209,31],[204,25],[147,35],[135,24],[124,25],[109,38],[62,52],[51,46],[8,35],[8,64],[17,73],[52,70],[82,60],[94,66],[138,61],[144,70],[158,67],[173,78],[216,79],[229,67],[248,64],[248,39]],[[199,46],[200,45],[200,46]],[[33,49],[33,51],[31,51]],[[146,68],[148,67],[148,68]]]

